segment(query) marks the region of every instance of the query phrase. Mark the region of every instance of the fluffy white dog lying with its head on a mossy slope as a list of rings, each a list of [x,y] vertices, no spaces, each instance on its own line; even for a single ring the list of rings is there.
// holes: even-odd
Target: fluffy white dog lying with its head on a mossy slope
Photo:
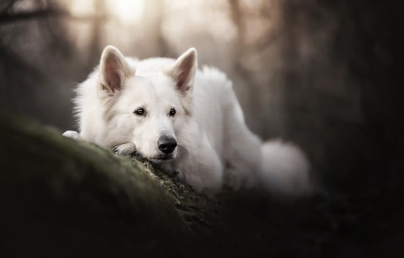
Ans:
[[[198,192],[214,194],[223,184],[312,190],[305,154],[278,140],[263,144],[246,126],[231,81],[215,68],[198,70],[194,48],[177,60],[137,60],[107,46],[76,93],[80,133],[63,135],[136,152]]]

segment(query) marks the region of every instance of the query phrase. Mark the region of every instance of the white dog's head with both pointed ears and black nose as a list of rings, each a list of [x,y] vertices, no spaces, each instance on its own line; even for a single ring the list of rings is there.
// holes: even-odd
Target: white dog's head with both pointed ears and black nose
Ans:
[[[132,142],[138,154],[149,160],[174,159],[185,151],[177,141],[192,114],[194,48],[158,72],[139,76],[118,49],[108,46],[99,69],[102,112],[111,144]]]

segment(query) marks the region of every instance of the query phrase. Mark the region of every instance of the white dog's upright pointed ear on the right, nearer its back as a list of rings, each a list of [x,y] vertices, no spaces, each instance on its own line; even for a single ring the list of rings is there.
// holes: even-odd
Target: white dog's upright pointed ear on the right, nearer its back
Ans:
[[[175,81],[177,90],[185,94],[192,91],[194,87],[197,67],[196,49],[190,48],[178,57],[174,66],[166,72],[166,75]]]

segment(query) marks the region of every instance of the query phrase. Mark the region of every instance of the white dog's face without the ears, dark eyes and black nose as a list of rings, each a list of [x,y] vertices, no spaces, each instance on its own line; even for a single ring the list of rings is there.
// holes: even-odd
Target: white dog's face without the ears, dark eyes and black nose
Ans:
[[[108,110],[109,126],[146,159],[171,159],[177,155],[177,137],[185,110],[173,80],[165,76],[130,78]]]

